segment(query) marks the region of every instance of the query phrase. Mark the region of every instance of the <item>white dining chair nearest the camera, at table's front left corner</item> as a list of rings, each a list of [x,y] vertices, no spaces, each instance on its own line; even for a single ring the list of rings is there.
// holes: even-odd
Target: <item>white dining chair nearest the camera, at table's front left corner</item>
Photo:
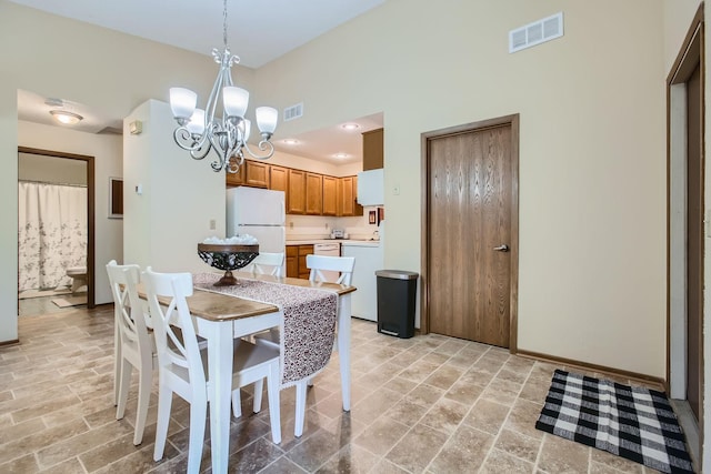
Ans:
[[[144,284],[158,347],[158,423],[153,460],[163,457],[172,395],[176,393],[190,403],[190,441],[188,472],[200,470],[204,427],[208,410],[207,353],[200,351],[187,296],[192,295],[190,273],[157,273],[150,268],[144,273]],[[169,299],[162,306],[159,297]],[[180,329],[180,334],[177,327]],[[261,394],[263,380],[269,391],[269,418],[272,441],[281,443],[281,416],[279,407],[279,351],[236,339],[232,360],[232,395],[240,387],[254,383],[254,392]],[[234,400],[234,399],[233,399]],[[254,399],[254,406],[260,407]],[[234,410],[234,405],[233,405]]]

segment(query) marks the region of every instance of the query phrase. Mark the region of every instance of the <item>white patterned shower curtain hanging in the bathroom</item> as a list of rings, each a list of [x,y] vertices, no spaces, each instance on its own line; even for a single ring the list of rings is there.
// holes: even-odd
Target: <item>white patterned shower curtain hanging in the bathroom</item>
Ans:
[[[87,262],[87,188],[18,183],[18,291],[71,284]]]

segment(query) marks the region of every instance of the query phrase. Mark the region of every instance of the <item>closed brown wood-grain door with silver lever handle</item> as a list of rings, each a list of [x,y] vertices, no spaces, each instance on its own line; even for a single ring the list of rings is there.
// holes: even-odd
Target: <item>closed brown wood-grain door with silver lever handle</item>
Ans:
[[[430,331],[502,347],[511,343],[518,272],[518,133],[511,120],[518,129],[514,115],[427,145]]]

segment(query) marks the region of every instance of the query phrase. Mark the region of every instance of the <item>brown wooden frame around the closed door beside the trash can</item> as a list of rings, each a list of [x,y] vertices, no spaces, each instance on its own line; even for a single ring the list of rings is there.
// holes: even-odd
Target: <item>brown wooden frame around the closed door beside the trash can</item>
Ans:
[[[511,128],[511,242],[510,242],[510,275],[511,286],[509,294],[509,352],[518,352],[519,329],[519,114],[503,115],[494,119],[470,122],[462,125],[432,130],[420,135],[421,150],[421,228],[420,228],[420,333],[429,333],[430,327],[430,292],[429,284],[429,254],[433,244],[430,239],[430,142],[448,135],[471,133],[495,127],[509,125]]]

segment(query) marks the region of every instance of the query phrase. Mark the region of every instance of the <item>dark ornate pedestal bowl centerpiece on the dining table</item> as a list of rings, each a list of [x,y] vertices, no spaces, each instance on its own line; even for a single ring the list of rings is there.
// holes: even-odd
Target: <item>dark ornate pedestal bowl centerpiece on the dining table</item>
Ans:
[[[216,286],[237,284],[232,270],[247,266],[259,255],[259,243],[249,234],[238,234],[229,239],[208,238],[198,244],[198,255],[208,265],[224,270],[224,275],[214,283]]]

